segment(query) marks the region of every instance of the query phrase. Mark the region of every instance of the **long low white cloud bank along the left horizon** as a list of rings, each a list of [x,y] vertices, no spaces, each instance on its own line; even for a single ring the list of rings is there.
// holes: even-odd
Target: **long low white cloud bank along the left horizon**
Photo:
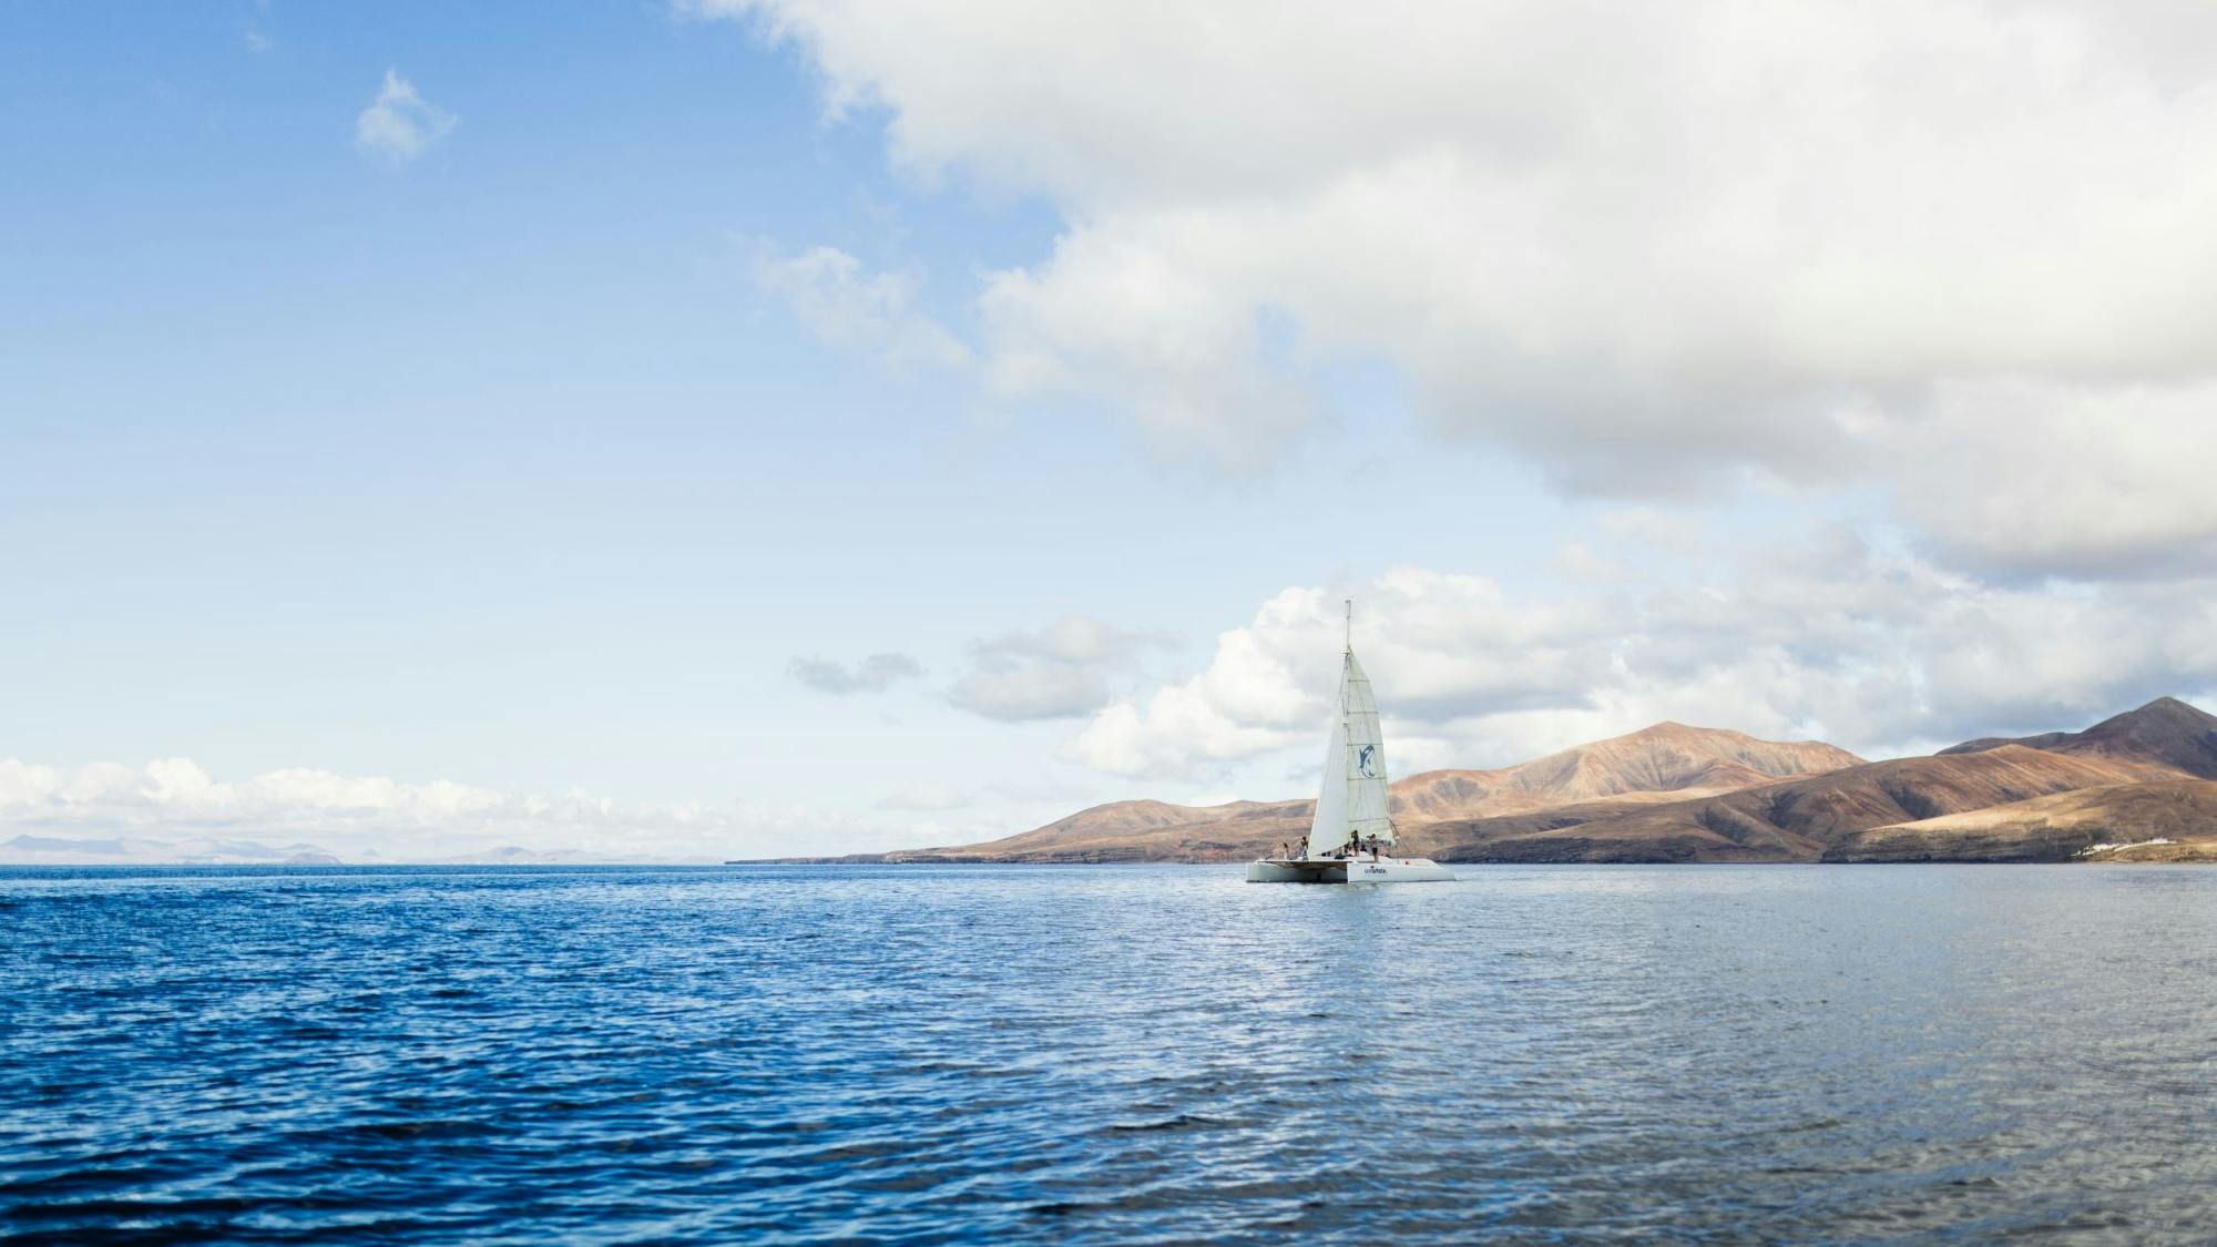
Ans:
[[[862,852],[913,843],[814,810],[760,805],[625,805],[605,797],[499,792],[468,783],[401,783],[328,770],[273,770],[239,781],[188,759],[144,768],[78,768],[0,759],[0,856],[55,841],[106,841],[146,861],[317,848],[341,859],[439,861],[499,848],[607,859],[712,859]],[[35,856],[35,852],[33,852]]]

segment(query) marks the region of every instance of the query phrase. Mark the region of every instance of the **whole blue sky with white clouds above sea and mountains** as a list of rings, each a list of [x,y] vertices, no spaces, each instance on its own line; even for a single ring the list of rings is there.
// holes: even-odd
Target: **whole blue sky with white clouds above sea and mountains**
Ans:
[[[2217,11],[0,4],[0,834],[2217,706]]]

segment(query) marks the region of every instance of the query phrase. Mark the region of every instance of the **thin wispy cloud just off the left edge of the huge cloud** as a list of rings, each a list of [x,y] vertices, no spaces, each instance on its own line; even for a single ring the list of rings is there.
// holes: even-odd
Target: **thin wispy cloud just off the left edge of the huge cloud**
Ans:
[[[783,253],[758,242],[754,284],[783,300],[816,337],[869,351],[889,366],[962,368],[971,355],[956,335],[918,311],[918,282],[902,273],[869,273],[836,246]]]

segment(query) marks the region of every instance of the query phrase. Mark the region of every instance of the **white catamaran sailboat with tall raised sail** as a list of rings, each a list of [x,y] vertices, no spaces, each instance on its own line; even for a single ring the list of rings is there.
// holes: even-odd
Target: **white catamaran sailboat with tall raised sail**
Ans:
[[[1372,848],[1375,845],[1375,848]],[[1454,872],[1423,856],[1397,856],[1386,794],[1386,739],[1370,677],[1355,661],[1355,601],[1339,657],[1339,719],[1324,746],[1317,817],[1295,856],[1248,863],[1248,883],[1443,883]]]

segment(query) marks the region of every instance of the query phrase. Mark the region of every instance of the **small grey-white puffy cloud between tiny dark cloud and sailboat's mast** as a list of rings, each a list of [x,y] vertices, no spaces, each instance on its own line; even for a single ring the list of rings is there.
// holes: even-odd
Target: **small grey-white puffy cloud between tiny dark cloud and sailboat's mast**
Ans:
[[[1066,615],[1038,632],[973,643],[971,670],[956,679],[949,699],[1004,723],[1075,719],[1106,706],[1113,681],[1162,643],[1166,639],[1151,632]]]

